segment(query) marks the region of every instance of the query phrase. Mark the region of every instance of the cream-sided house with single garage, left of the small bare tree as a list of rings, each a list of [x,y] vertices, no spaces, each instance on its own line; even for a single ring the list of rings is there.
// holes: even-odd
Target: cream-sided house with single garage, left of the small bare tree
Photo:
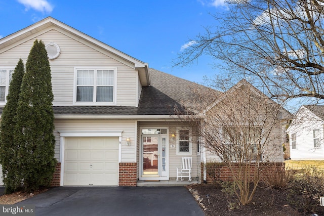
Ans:
[[[149,69],[52,17],[0,39],[1,112],[9,76],[19,58],[26,63],[35,39],[46,45],[52,71],[54,186],[174,180],[185,156],[192,157],[192,177],[200,178],[206,153],[200,154],[195,128],[177,116],[203,110],[199,95],[211,90]]]

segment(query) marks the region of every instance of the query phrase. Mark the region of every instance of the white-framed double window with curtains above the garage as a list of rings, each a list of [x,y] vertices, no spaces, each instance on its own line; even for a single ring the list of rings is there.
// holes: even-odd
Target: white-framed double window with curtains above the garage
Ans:
[[[76,68],[75,104],[116,103],[116,69]]]

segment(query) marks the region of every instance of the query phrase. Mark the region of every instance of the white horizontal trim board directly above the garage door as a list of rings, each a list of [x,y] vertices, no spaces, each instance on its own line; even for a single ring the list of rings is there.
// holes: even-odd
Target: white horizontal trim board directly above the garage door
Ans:
[[[60,137],[121,137],[123,131],[58,131]]]

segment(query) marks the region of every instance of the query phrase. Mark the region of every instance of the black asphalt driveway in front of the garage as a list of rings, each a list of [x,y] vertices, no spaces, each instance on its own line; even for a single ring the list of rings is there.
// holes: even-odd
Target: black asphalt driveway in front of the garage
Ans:
[[[19,204],[36,215],[204,215],[185,187],[57,187]]]

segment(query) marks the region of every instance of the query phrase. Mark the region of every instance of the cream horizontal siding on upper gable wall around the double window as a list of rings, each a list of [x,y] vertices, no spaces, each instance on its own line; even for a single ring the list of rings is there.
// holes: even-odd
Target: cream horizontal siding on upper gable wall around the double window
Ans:
[[[116,106],[137,106],[138,75],[134,65],[60,28],[54,28],[44,29],[25,42],[20,41],[21,44],[3,50],[0,53],[0,69],[15,68],[20,57],[26,63],[36,38],[43,40],[44,44],[55,42],[61,49],[61,55],[50,60],[54,106],[73,106],[75,67],[116,68]]]

